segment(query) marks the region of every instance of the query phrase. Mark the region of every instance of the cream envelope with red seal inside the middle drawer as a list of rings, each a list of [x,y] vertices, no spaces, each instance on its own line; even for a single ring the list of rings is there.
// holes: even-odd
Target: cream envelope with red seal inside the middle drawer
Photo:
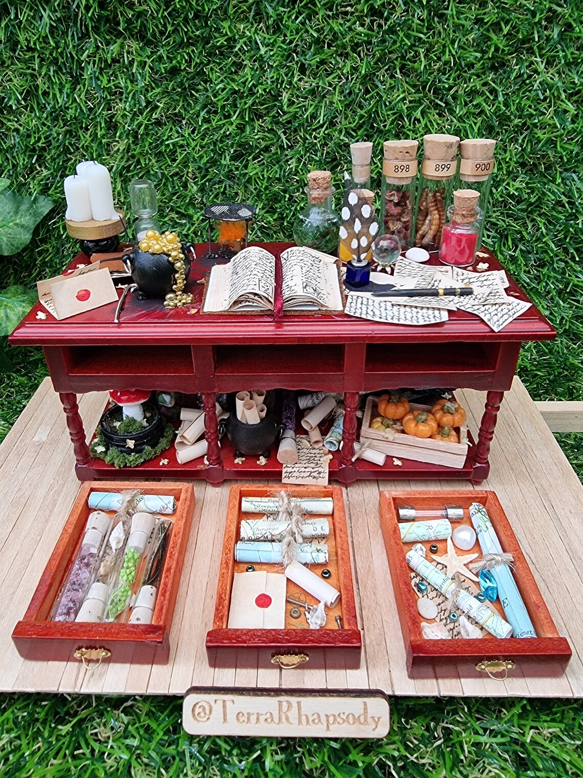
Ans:
[[[281,573],[235,573],[228,629],[284,629],[286,584]]]

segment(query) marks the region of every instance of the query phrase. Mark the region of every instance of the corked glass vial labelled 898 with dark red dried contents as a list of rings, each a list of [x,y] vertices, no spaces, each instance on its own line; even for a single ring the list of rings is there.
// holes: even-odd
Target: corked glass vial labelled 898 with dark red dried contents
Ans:
[[[383,144],[381,209],[383,232],[395,235],[402,249],[413,245],[413,211],[417,180],[418,141]]]

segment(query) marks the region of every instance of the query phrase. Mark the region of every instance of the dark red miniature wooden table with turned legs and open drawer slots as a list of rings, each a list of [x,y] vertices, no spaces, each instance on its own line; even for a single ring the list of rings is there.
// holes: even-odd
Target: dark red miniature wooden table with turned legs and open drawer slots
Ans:
[[[292,244],[260,244],[278,254]],[[87,314],[56,321],[37,303],[9,338],[12,345],[40,345],[51,380],[67,415],[80,480],[111,478],[120,471],[93,458],[86,443],[77,394],[103,389],[201,392],[208,440],[208,466],[200,460],[178,464],[173,447],[137,468],[124,468],[124,478],[206,478],[220,484],[225,478],[281,478],[281,464],[273,455],[264,467],[255,457],[234,462],[228,440],[219,447],[215,401],[218,392],[248,388],[265,390],[322,390],[344,393],[344,444],[330,462],[330,477],[349,484],[360,478],[487,478],[490,443],[504,391],[511,387],[522,342],[552,340],[556,336],[546,318],[532,306],[501,332],[494,332],[477,316],[450,312],[449,321],[423,327],[380,324],[344,314],[201,314],[203,286],[208,272],[204,254],[208,244],[196,247],[197,261],[190,272],[192,306],[166,310],[160,300],[131,296],[113,324],[115,304]],[[484,250],[490,270],[499,269],[494,255]],[[79,254],[71,268],[86,264]],[[435,262],[436,260],[431,260]],[[528,297],[513,279],[507,293]],[[487,391],[477,443],[461,469],[404,460],[396,467],[387,457],[384,468],[357,460],[360,392],[397,387],[456,387]]]

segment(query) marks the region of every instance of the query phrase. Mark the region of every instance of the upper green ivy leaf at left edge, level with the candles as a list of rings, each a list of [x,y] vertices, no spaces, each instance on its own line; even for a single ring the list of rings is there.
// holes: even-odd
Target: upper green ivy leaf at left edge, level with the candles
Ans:
[[[5,189],[0,179],[0,191]],[[14,192],[0,194],[0,254],[8,257],[24,248],[33,237],[40,219],[53,207],[51,198],[44,195],[21,197]]]

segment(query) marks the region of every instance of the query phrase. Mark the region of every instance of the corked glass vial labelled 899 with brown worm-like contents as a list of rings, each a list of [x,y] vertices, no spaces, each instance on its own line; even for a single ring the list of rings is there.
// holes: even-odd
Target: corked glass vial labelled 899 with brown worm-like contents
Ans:
[[[457,135],[424,135],[415,205],[415,246],[438,251],[456,180]]]

